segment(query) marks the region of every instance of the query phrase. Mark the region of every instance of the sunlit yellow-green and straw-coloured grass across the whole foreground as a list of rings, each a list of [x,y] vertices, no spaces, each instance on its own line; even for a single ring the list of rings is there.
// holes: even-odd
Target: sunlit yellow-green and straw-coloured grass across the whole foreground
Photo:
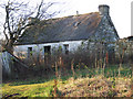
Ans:
[[[53,87],[57,86],[57,87]],[[102,75],[89,78],[70,77],[41,84],[2,86],[2,96],[8,97],[133,97],[133,84],[127,77],[110,77]],[[54,92],[55,91],[55,92]],[[53,94],[54,92],[54,94]],[[55,96],[54,96],[55,95]]]

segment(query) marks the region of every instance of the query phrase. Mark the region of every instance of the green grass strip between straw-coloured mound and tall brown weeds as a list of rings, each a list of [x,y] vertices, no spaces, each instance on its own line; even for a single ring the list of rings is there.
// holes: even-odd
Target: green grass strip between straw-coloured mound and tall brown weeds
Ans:
[[[78,77],[94,77],[96,75],[103,75],[103,68],[88,68],[76,69]],[[104,77],[117,77],[119,76],[119,65],[111,65],[104,68]],[[123,65],[121,68],[121,77],[132,77],[132,69]]]

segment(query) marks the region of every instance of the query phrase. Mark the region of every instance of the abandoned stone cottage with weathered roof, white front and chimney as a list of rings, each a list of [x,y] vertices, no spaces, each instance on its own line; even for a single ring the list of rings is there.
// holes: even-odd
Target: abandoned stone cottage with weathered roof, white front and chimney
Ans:
[[[30,52],[44,56],[60,46],[63,53],[73,52],[83,41],[103,38],[106,42],[119,40],[106,4],[99,6],[99,12],[39,21],[24,31],[13,48],[16,56],[24,58]]]

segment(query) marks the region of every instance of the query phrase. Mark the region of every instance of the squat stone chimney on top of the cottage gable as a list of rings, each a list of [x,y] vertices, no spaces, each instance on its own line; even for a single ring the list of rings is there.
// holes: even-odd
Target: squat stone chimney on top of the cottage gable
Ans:
[[[110,14],[110,7],[106,4],[100,4],[99,12],[101,15],[109,15]]]

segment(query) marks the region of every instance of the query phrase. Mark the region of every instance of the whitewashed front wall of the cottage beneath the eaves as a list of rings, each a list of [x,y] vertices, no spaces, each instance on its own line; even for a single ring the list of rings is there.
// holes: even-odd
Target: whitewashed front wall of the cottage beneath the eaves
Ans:
[[[64,44],[69,44],[69,52],[74,52],[78,46],[81,45],[83,41],[65,41],[65,42],[59,42],[59,43],[45,43],[45,44],[30,44],[30,45],[16,45],[13,47],[14,52],[13,54],[16,56],[21,56],[21,58],[28,57],[28,47],[32,47],[33,54],[40,54],[44,55],[44,46],[51,46],[51,53],[53,48],[59,48],[59,46],[62,47],[64,51]]]

